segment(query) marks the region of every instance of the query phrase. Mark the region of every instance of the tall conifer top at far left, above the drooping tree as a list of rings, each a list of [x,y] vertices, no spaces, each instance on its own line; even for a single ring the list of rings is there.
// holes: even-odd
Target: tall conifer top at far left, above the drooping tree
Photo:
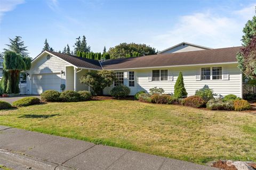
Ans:
[[[14,53],[22,55],[23,57],[28,56],[29,53],[27,53],[27,46],[24,45],[24,41],[21,41],[20,36],[15,36],[14,39],[9,38],[9,40],[10,45],[6,44],[6,46],[9,47],[9,49],[4,48],[4,52],[12,51]]]

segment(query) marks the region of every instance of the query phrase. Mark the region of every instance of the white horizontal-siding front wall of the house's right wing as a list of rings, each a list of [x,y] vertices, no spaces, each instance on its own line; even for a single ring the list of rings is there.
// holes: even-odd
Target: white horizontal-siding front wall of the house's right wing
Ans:
[[[229,80],[196,80],[196,75],[201,74],[202,67],[222,67],[222,74],[229,74]],[[170,79],[168,81],[149,81],[149,77],[152,75],[152,70],[168,70]],[[242,74],[237,68],[237,64],[220,64],[220,65],[202,65],[202,66],[187,66],[187,67],[164,67],[159,69],[137,69],[135,72],[135,86],[130,87],[130,95],[135,95],[138,91],[149,92],[150,88],[158,87],[163,88],[166,94],[173,94],[174,85],[179,76],[179,72],[183,74],[183,80],[185,88],[188,92],[188,96],[195,95],[195,91],[203,88],[205,85],[213,89],[213,92],[218,95],[226,96],[229,94],[242,97]],[[127,78],[129,70],[124,70],[124,84],[129,86],[129,79]],[[211,72],[212,74],[212,72]],[[173,79],[171,79],[173,78]],[[105,95],[109,94],[109,91],[113,88],[113,85],[103,90]]]

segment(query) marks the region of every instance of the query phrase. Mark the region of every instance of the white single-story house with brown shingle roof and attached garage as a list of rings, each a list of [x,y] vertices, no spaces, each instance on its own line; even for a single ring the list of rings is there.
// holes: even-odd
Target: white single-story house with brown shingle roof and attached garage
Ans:
[[[215,94],[242,97],[242,72],[236,60],[240,48],[206,48],[106,61],[44,51],[31,63],[27,93],[41,94],[48,89],[61,91],[60,84],[66,85],[65,90],[90,90],[79,82],[84,73],[113,70],[117,81],[105,88],[103,94],[108,95],[110,89],[118,84],[129,87],[130,95],[153,87],[163,88],[165,93],[172,94],[179,72],[182,72],[188,96],[207,85]]]

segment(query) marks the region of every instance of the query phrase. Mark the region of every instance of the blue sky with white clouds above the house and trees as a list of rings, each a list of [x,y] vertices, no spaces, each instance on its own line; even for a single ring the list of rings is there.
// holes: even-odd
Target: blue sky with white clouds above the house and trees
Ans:
[[[256,1],[0,0],[0,52],[21,36],[30,57],[44,40],[56,51],[85,35],[93,52],[120,43],[163,50],[183,41],[211,48],[241,46]]]

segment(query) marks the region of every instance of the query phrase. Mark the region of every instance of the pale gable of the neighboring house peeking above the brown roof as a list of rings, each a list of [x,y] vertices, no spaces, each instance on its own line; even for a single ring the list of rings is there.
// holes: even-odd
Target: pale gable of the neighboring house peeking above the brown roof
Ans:
[[[196,50],[212,49],[209,47],[199,46],[191,43],[180,43],[170,48],[164,49],[158,54],[167,54],[167,53],[180,53],[180,52],[191,52]]]

